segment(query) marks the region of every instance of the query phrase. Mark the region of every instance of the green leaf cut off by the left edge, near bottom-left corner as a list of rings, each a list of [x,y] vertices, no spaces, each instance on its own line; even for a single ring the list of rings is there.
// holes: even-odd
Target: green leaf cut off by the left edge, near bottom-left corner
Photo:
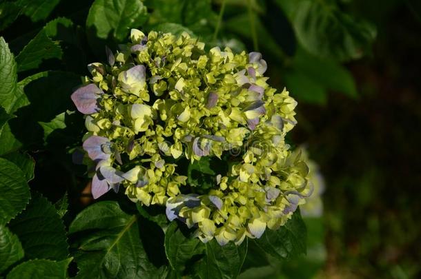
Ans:
[[[19,238],[4,225],[0,225],[0,274],[23,258]]]

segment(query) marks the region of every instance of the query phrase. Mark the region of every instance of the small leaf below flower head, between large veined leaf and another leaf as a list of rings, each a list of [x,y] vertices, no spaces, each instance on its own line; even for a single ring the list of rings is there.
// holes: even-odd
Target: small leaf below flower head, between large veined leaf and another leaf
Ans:
[[[188,261],[203,251],[204,245],[199,238],[184,236],[177,222],[170,223],[165,232],[165,254],[175,271],[183,273]]]

